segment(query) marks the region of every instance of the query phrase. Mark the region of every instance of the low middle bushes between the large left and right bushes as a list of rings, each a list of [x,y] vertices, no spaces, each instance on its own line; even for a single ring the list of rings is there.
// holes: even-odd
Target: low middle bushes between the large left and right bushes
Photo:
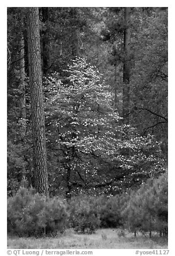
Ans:
[[[71,227],[76,232],[92,233],[98,227],[122,226],[122,211],[128,198],[127,194],[72,198],[69,205]]]

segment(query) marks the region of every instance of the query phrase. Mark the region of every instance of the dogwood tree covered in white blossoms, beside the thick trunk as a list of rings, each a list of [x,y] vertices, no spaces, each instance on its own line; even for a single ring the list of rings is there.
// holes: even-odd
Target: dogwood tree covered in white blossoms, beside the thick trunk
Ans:
[[[54,168],[50,183],[66,187],[69,197],[85,189],[96,193],[99,188],[122,188],[138,170],[141,176],[148,175],[145,162],[157,162],[159,145],[151,136],[136,136],[131,128],[129,140],[125,139],[122,118],[113,108],[112,88],[97,68],[77,58],[64,72],[66,82],[56,72],[45,81],[47,145],[50,170]]]

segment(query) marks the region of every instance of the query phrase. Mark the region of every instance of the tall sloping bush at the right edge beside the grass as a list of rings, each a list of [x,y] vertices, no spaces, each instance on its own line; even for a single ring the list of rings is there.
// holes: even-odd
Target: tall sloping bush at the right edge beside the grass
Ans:
[[[123,216],[130,230],[167,233],[167,173],[133,193]]]

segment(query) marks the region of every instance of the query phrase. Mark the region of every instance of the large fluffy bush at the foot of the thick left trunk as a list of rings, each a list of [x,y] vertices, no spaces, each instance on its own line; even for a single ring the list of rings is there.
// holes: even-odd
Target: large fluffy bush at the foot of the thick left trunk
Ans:
[[[59,198],[47,198],[34,189],[20,188],[8,198],[8,232],[19,236],[41,236],[63,232],[68,223],[65,204]]]

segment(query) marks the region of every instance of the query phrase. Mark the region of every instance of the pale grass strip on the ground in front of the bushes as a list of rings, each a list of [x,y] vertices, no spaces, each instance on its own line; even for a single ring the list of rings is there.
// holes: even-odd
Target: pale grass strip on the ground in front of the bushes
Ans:
[[[13,237],[8,236],[8,249],[158,249],[167,248],[167,240],[163,237],[154,236],[150,239],[138,233],[118,236],[118,230],[99,229],[94,234],[78,234],[71,229],[56,237]]]

